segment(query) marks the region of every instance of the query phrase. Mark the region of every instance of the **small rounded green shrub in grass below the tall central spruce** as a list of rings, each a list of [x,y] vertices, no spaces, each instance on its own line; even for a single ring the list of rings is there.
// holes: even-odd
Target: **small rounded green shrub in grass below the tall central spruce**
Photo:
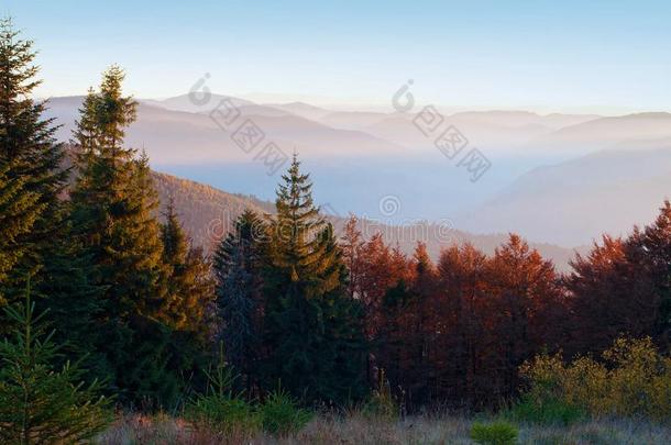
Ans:
[[[271,392],[258,408],[263,430],[275,436],[297,433],[312,419],[312,414],[298,408],[294,399],[283,391]]]

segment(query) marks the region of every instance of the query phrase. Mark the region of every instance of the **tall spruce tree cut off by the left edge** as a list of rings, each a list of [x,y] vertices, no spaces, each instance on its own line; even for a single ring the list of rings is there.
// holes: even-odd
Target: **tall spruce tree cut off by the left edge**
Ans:
[[[67,338],[59,357],[87,354],[87,366],[96,370],[90,323],[100,289],[91,285],[92,269],[59,198],[69,171],[62,168],[53,120],[42,119],[46,104],[31,98],[40,85],[34,57],[32,42],[21,40],[10,20],[0,21],[0,304],[14,301],[32,276],[36,304],[50,309],[55,340]],[[0,321],[2,334],[11,320]]]

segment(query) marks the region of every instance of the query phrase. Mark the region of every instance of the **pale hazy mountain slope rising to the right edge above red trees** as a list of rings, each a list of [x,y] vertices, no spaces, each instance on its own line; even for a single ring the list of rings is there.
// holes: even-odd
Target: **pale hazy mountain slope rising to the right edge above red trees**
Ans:
[[[668,197],[671,142],[620,144],[537,168],[458,223],[476,232],[515,230],[530,240],[579,245],[652,221]]]

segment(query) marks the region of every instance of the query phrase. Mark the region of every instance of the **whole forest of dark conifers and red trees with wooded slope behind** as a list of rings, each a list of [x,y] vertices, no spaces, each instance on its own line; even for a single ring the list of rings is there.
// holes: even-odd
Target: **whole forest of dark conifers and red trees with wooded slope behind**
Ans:
[[[669,201],[568,270],[516,234],[324,215],[298,154],[264,203],[152,173],[117,65],[66,148],[34,57],[0,21],[1,443],[345,442],[343,418],[427,412],[496,412],[472,424],[490,444],[603,419],[671,436]]]

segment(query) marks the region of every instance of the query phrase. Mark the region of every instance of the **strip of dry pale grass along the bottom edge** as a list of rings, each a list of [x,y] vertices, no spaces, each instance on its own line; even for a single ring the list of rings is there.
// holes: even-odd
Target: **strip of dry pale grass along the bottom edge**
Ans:
[[[123,415],[98,441],[106,445],[131,444],[472,444],[471,420],[459,416],[421,416],[389,422],[352,414],[344,419],[318,416],[300,433],[273,438],[230,434],[220,437],[209,431],[195,431],[189,424],[165,415]],[[590,421],[569,427],[520,425],[520,444],[610,445],[671,444],[671,427],[636,421]]]

